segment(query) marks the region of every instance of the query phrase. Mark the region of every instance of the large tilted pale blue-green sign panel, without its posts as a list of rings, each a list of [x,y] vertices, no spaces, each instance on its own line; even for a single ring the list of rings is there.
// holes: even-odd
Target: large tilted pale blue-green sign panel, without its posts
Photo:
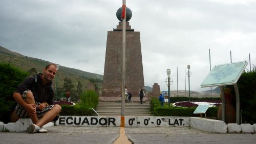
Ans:
[[[236,84],[247,64],[247,61],[241,61],[215,65],[203,80],[201,87]]]

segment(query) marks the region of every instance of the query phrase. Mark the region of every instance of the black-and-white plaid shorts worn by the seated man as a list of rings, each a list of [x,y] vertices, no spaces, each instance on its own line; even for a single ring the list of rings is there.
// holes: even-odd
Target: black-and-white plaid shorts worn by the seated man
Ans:
[[[31,91],[31,90],[25,90],[22,94],[22,98],[24,101],[26,101],[27,98],[27,92]],[[40,102],[35,102],[36,105],[40,105]],[[54,105],[50,105],[47,106],[45,109],[43,110],[39,110],[38,108],[36,108],[36,114],[38,118],[41,118],[46,112],[48,112],[49,110],[51,110],[53,108]],[[27,113],[27,111],[25,110],[24,107],[20,106],[19,104],[17,104],[16,108],[15,108],[16,114],[18,117],[20,118],[29,118],[29,115]]]

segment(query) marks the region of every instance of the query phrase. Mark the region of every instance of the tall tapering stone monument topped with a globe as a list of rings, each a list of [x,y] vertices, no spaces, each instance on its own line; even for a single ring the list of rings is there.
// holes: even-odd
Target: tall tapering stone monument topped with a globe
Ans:
[[[122,95],[122,8],[117,10],[119,25],[108,31],[106,40],[105,66],[102,97],[121,97]],[[126,7],[126,81],[125,86],[133,97],[139,97],[144,87],[143,65],[140,45],[140,32],[135,32],[129,25],[132,11]]]

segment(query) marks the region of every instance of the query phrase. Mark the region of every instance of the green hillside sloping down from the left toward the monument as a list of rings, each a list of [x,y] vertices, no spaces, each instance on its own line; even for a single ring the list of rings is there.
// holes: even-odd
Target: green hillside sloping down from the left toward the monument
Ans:
[[[33,68],[37,73],[41,73],[42,69],[48,63],[51,63],[49,61],[27,57],[19,53],[9,51],[8,49],[2,46],[0,46],[0,61],[10,63],[11,65],[19,67],[20,69],[23,69],[25,71],[29,71],[30,69]],[[53,81],[54,88],[56,88],[56,80],[57,80],[58,89],[62,88],[65,78],[71,79],[72,84],[74,85],[74,90],[77,89],[78,80],[82,84],[82,90],[85,90],[87,89],[88,84],[90,82],[89,79],[98,79],[99,81],[102,81],[103,76],[60,65],[57,73],[57,79],[55,78]],[[99,84],[99,87],[100,86],[101,84]]]

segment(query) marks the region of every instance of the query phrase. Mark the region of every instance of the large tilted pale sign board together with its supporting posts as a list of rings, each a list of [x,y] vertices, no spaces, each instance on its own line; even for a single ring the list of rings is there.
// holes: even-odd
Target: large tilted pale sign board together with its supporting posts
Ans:
[[[215,65],[214,68],[209,72],[206,78],[203,80],[201,87],[212,87],[219,86],[222,100],[222,121],[225,122],[225,92],[223,86],[233,85],[236,94],[236,123],[240,125],[240,99],[237,82],[242,75],[247,61],[240,61],[234,63]]]

